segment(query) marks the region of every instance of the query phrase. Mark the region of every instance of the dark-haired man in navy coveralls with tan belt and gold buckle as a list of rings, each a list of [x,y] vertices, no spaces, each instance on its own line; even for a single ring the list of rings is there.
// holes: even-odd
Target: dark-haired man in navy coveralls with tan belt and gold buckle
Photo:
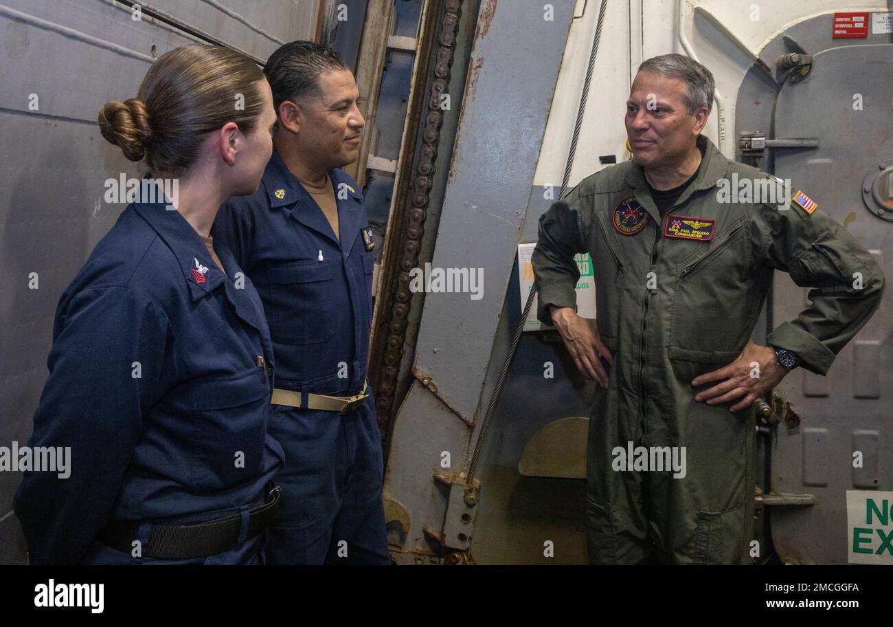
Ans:
[[[280,47],[264,72],[279,115],[275,150],[257,192],[221,207],[213,237],[260,293],[276,359],[270,429],[286,464],[267,563],[389,564],[380,432],[365,388],[374,243],[360,189],[339,170],[359,152],[359,92],[338,54],[312,42]],[[306,406],[313,395],[363,391],[345,413]],[[276,404],[296,392],[301,405]]]

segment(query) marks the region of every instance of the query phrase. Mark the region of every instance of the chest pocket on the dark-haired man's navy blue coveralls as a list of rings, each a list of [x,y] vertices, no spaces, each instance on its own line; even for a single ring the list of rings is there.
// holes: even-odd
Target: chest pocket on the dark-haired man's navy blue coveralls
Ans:
[[[316,344],[334,334],[331,323],[332,267],[308,260],[267,270],[264,303],[272,339],[282,344]]]

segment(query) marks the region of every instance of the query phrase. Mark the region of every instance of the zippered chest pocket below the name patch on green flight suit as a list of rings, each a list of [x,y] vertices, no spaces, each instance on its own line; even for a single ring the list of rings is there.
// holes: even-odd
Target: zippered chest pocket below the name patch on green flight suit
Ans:
[[[737,351],[750,336],[751,318],[760,305],[748,299],[753,276],[747,222],[731,225],[709,243],[693,243],[704,249],[676,264],[670,346]]]

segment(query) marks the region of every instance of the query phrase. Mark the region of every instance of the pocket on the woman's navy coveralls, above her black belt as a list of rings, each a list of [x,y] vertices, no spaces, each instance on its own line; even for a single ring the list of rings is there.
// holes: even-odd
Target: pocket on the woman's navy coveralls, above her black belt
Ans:
[[[261,472],[270,410],[263,366],[208,377],[192,384],[192,483],[195,489],[227,489]]]

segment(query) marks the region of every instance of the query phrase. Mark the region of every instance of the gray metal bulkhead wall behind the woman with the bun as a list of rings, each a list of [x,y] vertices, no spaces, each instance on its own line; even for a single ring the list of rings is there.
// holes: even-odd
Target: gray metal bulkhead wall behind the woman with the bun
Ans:
[[[0,4],[0,446],[28,440],[58,299],[125,206],[104,201],[105,181],[140,173],[100,135],[99,107],[136,96],[171,48],[208,38],[265,61],[313,39],[318,14],[318,0],[153,5],[179,28],[111,0]],[[20,482],[0,472],[0,564],[27,561],[12,513]]]

